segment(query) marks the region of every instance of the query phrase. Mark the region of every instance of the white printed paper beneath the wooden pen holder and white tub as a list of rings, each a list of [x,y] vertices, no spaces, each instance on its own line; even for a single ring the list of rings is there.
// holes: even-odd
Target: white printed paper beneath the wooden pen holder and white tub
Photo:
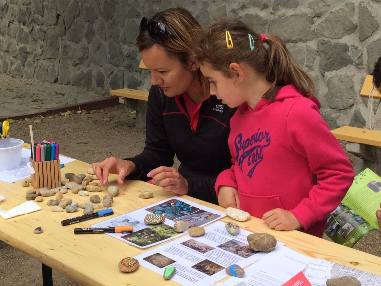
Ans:
[[[26,166],[26,164],[29,163],[30,150],[22,148],[21,156],[21,166],[10,170],[0,171],[0,181],[14,183],[18,180],[30,177],[28,167]],[[59,156],[59,159],[60,163],[64,164],[75,161],[75,159],[66,158],[64,156]]]

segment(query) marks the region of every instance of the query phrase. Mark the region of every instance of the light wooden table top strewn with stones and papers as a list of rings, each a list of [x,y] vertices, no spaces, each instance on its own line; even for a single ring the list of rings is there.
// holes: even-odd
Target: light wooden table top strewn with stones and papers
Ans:
[[[84,173],[89,164],[81,161],[73,161],[65,164],[61,170],[62,178],[65,173]],[[116,175],[111,175],[109,183],[102,187],[102,192],[97,193],[100,197],[107,194],[109,185],[117,185]],[[67,180],[67,179],[66,179]],[[20,181],[8,184],[0,181],[0,194],[5,200],[0,202],[0,208],[9,210],[21,203],[26,202],[25,192],[32,187],[22,187]],[[119,194],[114,197],[111,207],[114,216],[126,214],[174,196],[172,192],[164,192],[160,187],[141,181],[125,181],[119,186]],[[139,192],[150,190],[154,197],[140,199]],[[84,286],[125,286],[125,285],[157,285],[164,283],[163,277],[145,267],[139,268],[132,273],[122,273],[118,269],[118,262],[127,256],[134,257],[146,250],[140,249],[107,234],[74,235],[74,228],[90,227],[90,225],[108,220],[110,217],[101,217],[88,221],[75,223],[69,226],[61,226],[61,221],[74,216],[82,215],[79,209],[75,213],[54,213],[46,202],[53,197],[45,197],[43,202],[36,202],[42,210],[16,216],[4,220],[0,217],[0,240],[20,249],[21,251],[36,258],[45,265],[63,273]],[[88,201],[88,197],[81,197],[69,190],[64,198],[72,198],[73,202]],[[224,211],[224,208],[212,205],[185,196],[198,204]],[[225,217],[222,221],[231,221]],[[304,255],[313,258],[322,258],[350,267],[358,268],[375,274],[381,274],[381,258],[342,245],[335,244],[314,236],[298,231],[275,231],[267,227],[264,221],[251,217],[248,221],[235,221],[241,228],[252,232],[267,232],[274,235],[286,246]],[[41,226],[42,234],[34,234],[33,230]],[[168,242],[167,242],[168,243]],[[153,246],[155,247],[155,246]],[[352,262],[352,264],[351,264]],[[174,281],[166,281],[166,285],[179,285]]]

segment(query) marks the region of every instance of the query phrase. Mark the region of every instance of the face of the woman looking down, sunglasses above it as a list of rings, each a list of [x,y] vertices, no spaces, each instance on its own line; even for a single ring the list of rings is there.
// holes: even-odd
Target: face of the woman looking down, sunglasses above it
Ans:
[[[151,71],[152,85],[159,85],[166,96],[183,94],[197,84],[195,76],[178,59],[168,56],[160,45],[155,44],[141,51],[140,55],[144,65]]]

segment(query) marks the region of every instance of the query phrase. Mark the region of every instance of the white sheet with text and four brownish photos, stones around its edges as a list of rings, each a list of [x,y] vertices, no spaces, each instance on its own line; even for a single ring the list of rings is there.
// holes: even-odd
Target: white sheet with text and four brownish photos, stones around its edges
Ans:
[[[244,268],[268,255],[249,247],[246,239],[249,234],[252,232],[240,229],[239,234],[231,235],[225,229],[225,223],[217,221],[205,227],[202,236],[186,235],[135,258],[140,265],[160,275],[166,267],[176,267],[171,280],[181,285],[207,286],[227,277],[226,267],[238,264]],[[283,245],[278,242],[275,249],[283,248]]]

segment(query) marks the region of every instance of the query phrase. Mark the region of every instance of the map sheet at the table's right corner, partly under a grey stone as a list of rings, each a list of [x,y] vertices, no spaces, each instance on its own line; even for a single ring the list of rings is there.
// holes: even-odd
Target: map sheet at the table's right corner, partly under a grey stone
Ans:
[[[319,258],[316,258],[310,263],[306,269],[303,270],[303,274],[313,286],[325,286],[328,279],[343,276],[353,276],[357,278],[361,286],[381,285],[381,276],[379,275]]]

